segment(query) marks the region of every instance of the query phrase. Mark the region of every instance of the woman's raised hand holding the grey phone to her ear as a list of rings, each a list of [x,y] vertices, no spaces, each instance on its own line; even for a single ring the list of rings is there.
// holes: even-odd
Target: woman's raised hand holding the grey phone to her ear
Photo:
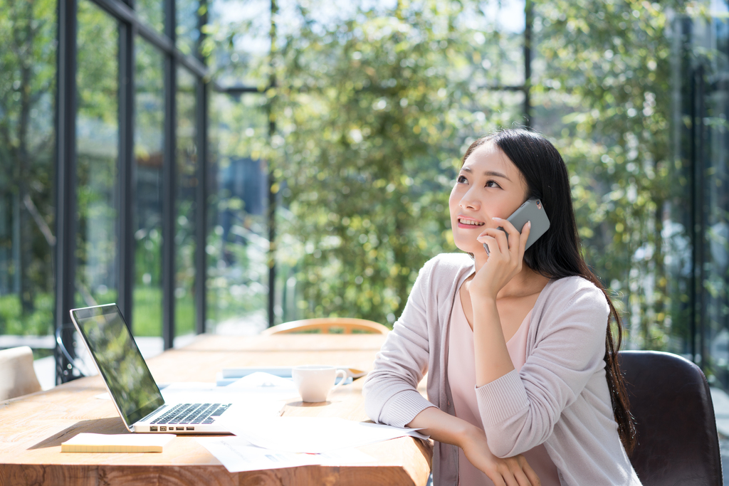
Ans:
[[[496,299],[496,294],[514,278],[514,275],[521,272],[531,222],[527,222],[520,233],[507,219],[494,218],[494,221],[501,225],[505,232],[488,228],[476,238],[480,243],[488,245],[490,254],[486,264],[471,281],[470,291],[472,294],[475,291],[477,294]]]

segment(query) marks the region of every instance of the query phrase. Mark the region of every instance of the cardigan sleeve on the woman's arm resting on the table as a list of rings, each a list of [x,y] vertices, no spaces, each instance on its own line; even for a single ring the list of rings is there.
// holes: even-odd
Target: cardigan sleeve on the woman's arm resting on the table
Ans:
[[[402,315],[375,358],[362,388],[364,410],[377,423],[404,427],[428,407],[418,383],[428,372],[429,342],[426,294],[431,262],[418,273]]]

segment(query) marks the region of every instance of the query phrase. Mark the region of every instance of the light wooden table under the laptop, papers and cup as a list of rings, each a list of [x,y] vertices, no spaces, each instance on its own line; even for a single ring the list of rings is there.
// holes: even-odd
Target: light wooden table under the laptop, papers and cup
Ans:
[[[381,334],[202,334],[191,345],[165,351],[148,364],[157,383],[211,382],[223,367],[336,364],[370,370],[384,338]],[[338,388],[324,404],[304,404],[292,397],[284,415],[368,420],[363,381]],[[162,453],[62,454],[61,442],[80,432],[125,433],[112,402],[95,398],[104,391],[97,376],[0,401],[0,486],[424,486],[429,475],[432,445],[410,437],[360,447],[375,458],[374,463],[241,473],[229,473],[194,436],[177,436]]]

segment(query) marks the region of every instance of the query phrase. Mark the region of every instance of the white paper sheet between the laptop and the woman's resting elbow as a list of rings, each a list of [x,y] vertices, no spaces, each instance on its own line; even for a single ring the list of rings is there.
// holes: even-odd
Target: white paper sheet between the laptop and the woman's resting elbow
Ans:
[[[222,418],[221,418],[222,419]],[[236,436],[265,449],[321,453],[359,447],[402,436],[427,439],[417,429],[354,422],[341,418],[276,417],[248,423],[222,422]]]

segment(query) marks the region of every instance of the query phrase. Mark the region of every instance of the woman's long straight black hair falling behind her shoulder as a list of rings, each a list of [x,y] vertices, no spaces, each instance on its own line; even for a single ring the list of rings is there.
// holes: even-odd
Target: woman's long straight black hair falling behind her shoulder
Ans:
[[[631,453],[636,444],[635,424],[630,413],[625,381],[617,364],[617,351],[623,334],[615,306],[607,291],[592,273],[580,254],[580,237],[572,208],[572,194],[569,187],[567,167],[561,154],[547,138],[524,129],[505,129],[479,138],[469,146],[461,165],[469,155],[483,144],[493,143],[509,157],[521,172],[529,188],[527,198],[537,197],[544,204],[550,229],[524,253],[524,263],[547,278],[564,278],[578,275],[600,289],[610,307],[610,318],[617,327],[617,337],[612,337],[607,326],[605,336],[605,372],[610,390],[612,412],[617,422],[617,432],[623,447]]]

